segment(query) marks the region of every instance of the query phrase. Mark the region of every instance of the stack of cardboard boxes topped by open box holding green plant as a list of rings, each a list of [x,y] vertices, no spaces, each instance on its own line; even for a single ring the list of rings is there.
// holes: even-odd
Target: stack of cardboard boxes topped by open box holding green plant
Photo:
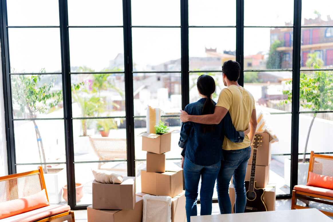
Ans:
[[[170,151],[171,132],[162,135],[143,132],[142,150],[147,151],[147,168],[141,170],[142,197],[145,194],[170,196],[171,222],[186,221],[182,170],[165,169],[165,153]]]

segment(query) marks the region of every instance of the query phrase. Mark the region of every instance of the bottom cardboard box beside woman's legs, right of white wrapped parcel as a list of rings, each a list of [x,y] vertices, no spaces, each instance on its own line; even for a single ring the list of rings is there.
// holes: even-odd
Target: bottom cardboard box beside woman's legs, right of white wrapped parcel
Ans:
[[[171,199],[171,222],[186,222],[185,190]]]

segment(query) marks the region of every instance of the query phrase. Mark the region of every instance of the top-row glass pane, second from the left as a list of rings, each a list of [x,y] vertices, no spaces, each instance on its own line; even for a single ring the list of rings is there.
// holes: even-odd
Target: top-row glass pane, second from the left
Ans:
[[[68,24],[70,26],[122,26],[123,1],[68,0]]]

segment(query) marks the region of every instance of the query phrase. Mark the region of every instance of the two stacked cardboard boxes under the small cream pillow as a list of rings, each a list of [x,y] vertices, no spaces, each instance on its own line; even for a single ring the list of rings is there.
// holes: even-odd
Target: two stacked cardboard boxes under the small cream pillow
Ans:
[[[136,196],[135,177],[120,184],[93,181],[93,204],[87,207],[88,222],[141,222],[142,197]]]

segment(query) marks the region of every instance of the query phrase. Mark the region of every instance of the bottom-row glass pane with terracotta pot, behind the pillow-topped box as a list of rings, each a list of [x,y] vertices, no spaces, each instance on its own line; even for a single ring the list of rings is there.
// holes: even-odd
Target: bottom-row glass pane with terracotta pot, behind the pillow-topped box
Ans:
[[[127,176],[127,162],[107,162],[109,169],[115,173]],[[104,166],[103,165],[103,166]],[[94,175],[91,169],[97,169],[98,163],[75,163],[75,189],[76,189],[76,204],[90,205],[93,203],[93,181]]]

